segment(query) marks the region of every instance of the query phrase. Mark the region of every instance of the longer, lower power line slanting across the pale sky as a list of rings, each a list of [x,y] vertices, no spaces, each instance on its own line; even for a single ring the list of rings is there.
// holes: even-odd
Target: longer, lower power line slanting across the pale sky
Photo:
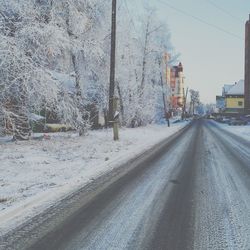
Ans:
[[[161,0],[158,0],[158,1],[159,1],[160,3],[162,3],[162,4],[166,5],[166,6],[168,6],[169,8],[171,8],[171,9],[173,9],[173,10],[175,10],[175,11],[177,11],[177,12],[183,14],[183,15],[185,15],[185,16],[191,17],[191,18],[193,18],[194,20],[199,21],[200,23],[206,24],[207,26],[210,26],[210,27],[212,27],[212,28],[214,28],[214,29],[216,29],[216,30],[218,30],[218,31],[221,31],[221,32],[223,32],[223,33],[225,33],[225,34],[228,34],[228,35],[230,35],[230,36],[232,36],[232,37],[234,37],[234,38],[237,38],[237,39],[239,39],[239,40],[241,40],[241,41],[243,40],[243,37],[240,37],[240,36],[238,36],[238,35],[236,35],[236,34],[230,32],[230,31],[228,31],[228,30],[225,30],[224,28],[221,28],[221,27],[215,25],[215,24],[208,23],[207,21],[205,21],[205,20],[203,20],[203,19],[201,19],[201,18],[199,18],[199,17],[196,17],[196,16],[194,16],[194,15],[192,15],[192,14],[189,14],[188,12],[186,12],[186,11],[184,11],[184,10],[181,10],[181,9],[179,9],[179,8],[176,8],[175,6],[169,4],[169,3],[166,2],[166,1],[161,1]]]

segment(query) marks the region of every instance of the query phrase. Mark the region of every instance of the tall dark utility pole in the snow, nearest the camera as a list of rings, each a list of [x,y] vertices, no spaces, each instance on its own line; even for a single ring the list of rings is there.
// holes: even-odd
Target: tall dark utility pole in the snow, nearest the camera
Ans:
[[[114,118],[115,99],[115,50],[116,50],[116,0],[112,0],[112,18],[111,18],[111,52],[110,52],[110,81],[109,81],[109,123],[113,125],[114,140],[118,140],[118,119]]]

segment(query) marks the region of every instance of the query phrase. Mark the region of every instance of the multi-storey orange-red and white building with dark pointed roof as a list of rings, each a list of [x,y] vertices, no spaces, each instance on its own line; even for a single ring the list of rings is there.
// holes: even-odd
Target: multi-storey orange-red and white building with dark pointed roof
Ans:
[[[183,66],[173,66],[170,70],[170,106],[172,110],[182,109],[184,105],[184,75]]]

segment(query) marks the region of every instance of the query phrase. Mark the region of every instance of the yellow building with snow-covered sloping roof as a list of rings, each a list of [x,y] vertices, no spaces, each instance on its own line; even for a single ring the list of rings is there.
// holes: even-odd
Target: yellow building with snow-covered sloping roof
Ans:
[[[244,112],[244,80],[236,82],[228,88],[225,94],[225,112]]]

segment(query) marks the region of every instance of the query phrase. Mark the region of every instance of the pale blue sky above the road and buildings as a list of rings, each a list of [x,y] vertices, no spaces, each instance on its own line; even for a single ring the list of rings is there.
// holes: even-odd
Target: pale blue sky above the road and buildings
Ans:
[[[142,1],[128,0],[132,3],[131,11],[138,12]],[[135,2],[137,7],[133,4]],[[217,25],[241,39],[200,23],[162,2]],[[175,49],[181,53],[186,85],[199,90],[203,102],[215,102],[223,84],[244,78],[244,32],[250,0],[150,0],[148,3],[158,9],[157,14],[168,24]]]

